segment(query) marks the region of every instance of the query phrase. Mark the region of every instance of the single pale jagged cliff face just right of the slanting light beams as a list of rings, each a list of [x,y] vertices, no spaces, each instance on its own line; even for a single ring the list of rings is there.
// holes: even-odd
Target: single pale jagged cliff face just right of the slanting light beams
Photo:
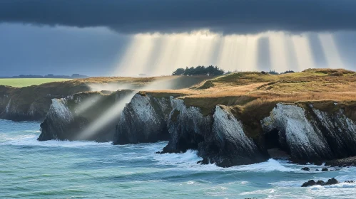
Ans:
[[[170,97],[136,94],[123,109],[113,144],[167,141],[166,121],[171,109]]]

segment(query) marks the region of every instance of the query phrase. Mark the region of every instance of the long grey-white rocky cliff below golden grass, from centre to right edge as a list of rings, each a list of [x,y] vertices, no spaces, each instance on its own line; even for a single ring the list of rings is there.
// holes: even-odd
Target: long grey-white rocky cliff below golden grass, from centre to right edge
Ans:
[[[166,140],[169,134],[161,153],[195,149],[203,163],[218,166],[265,161],[273,148],[287,152],[295,162],[320,163],[356,156],[353,110],[352,103],[275,103],[260,109],[267,117],[252,121],[259,117],[247,119],[240,107],[216,105],[207,112],[173,96],[137,94],[121,114],[114,144]]]

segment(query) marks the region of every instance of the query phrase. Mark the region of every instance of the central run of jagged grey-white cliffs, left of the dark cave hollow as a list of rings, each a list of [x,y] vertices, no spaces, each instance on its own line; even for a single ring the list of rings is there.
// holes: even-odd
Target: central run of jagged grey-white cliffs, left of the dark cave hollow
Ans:
[[[169,136],[168,136],[169,133]],[[198,150],[204,163],[234,166],[268,158],[245,135],[243,124],[228,107],[217,106],[203,115],[198,107],[187,107],[182,99],[136,95],[121,114],[114,144],[136,144],[169,138],[163,153]]]

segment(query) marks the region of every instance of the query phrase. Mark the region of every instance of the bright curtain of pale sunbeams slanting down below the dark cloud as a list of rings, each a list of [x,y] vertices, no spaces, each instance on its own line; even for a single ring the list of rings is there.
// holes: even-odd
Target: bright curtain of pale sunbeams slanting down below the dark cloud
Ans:
[[[330,65],[342,67],[331,34],[320,34]],[[221,35],[210,31],[138,34],[117,66],[119,76],[171,75],[176,68],[218,65],[225,71],[305,70],[315,68],[306,34],[266,32],[256,35]]]

